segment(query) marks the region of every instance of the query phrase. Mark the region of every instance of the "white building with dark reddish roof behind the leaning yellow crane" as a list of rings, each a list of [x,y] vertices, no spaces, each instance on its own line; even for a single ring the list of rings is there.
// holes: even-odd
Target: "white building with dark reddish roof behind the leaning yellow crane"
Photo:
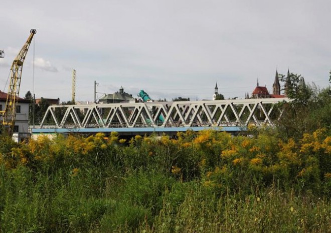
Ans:
[[[5,110],[7,95],[8,93],[0,91],[0,110]],[[18,135],[22,135],[23,137],[28,136],[29,103],[30,100],[19,97],[16,104],[14,133],[18,133]],[[3,120],[2,116],[0,116],[0,120]]]

